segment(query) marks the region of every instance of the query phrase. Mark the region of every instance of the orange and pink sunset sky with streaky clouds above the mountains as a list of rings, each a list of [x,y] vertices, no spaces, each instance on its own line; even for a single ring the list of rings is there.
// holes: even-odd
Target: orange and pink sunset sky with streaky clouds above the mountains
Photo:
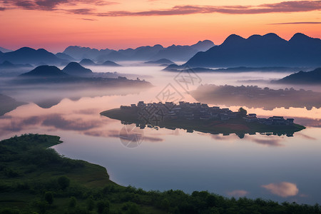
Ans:
[[[230,34],[321,38],[321,1],[0,0],[0,47],[190,45]]]

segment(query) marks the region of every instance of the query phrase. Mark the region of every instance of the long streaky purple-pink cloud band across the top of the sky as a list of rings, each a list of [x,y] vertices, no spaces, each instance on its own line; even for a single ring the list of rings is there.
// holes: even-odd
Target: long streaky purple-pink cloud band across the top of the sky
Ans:
[[[100,0],[0,0],[3,6],[16,6],[21,9],[29,10],[57,10],[61,5],[92,4],[95,6],[119,4],[113,1]],[[71,14],[86,14],[92,16],[173,16],[188,14],[270,14],[270,13],[290,13],[320,11],[321,1],[282,1],[275,4],[260,4],[253,6],[200,6],[183,5],[173,6],[170,9],[155,9],[149,11],[106,11],[103,13],[95,12],[95,9],[68,10]],[[66,11],[61,9],[61,11]]]

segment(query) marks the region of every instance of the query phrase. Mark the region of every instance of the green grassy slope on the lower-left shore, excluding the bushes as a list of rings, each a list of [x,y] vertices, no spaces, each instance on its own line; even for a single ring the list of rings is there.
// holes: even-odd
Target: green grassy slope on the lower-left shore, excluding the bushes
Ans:
[[[2,208],[16,208],[22,213],[72,213],[68,208],[71,196],[77,197],[78,208],[85,208],[89,195],[106,186],[125,189],[109,180],[101,165],[72,160],[49,148],[59,143],[63,143],[60,137],[48,135],[15,136],[0,142],[0,213]],[[57,182],[61,176],[70,180],[64,190]],[[52,205],[44,201],[47,191],[54,193]],[[45,211],[35,205],[39,203],[45,205]],[[122,206],[123,203],[114,203],[111,210]],[[159,213],[151,206],[140,208],[145,213]]]

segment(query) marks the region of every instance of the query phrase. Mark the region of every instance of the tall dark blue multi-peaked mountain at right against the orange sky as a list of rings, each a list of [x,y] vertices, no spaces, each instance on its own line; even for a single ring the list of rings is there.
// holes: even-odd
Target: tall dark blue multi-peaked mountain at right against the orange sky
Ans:
[[[238,66],[321,66],[321,40],[297,33],[289,41],[276,34],[244,39],[230,35],[219,46],[198,52],[185,65],[226,68]]]

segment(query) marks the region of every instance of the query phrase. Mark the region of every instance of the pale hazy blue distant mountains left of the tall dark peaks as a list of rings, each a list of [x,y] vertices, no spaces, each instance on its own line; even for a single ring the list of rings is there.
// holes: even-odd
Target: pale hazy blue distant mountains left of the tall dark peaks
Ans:
[[[89,58],[93,61],[103,63],[103,61],[148,61],[168,58],[172,61],[187,61],[198,51],[206,51],[213,47],[212,41],[198,41],[191,46],[169,46],[167,48],[157,44],[155,46],[141,46],[137,49],[90,49],[81,46],[68,46],[63,54],[81,60]]]

